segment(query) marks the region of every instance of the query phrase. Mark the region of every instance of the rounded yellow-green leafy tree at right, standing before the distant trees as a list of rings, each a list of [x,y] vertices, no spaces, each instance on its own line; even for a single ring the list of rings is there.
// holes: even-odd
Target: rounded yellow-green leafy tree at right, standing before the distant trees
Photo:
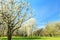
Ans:
[[[49,36],[55,36],[55,34],[57,32],[57,27],[56,27],[55,23],[47,24],[45,29],[49,33]]]

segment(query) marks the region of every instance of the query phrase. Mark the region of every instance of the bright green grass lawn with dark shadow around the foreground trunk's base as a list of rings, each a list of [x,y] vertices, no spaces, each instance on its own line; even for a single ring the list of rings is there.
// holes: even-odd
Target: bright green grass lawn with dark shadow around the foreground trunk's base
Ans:
[[[0,37],[0,40],[7,40],[7,38]],[[60,37],[13,37],[12,40],[60,40]]]

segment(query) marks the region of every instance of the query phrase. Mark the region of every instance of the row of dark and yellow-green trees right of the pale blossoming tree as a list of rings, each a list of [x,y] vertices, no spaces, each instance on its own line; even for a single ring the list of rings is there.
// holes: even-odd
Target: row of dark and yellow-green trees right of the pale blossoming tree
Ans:
[[[45,28],[34,31],[34,36],[60,36],[60,22],[47,24]]]

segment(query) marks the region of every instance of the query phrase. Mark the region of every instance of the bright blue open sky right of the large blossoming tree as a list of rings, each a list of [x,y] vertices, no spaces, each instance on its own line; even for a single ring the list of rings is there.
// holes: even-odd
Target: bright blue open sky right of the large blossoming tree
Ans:
[[[60,21],[60,0],[28,0],[34,10],[37,25]]]

